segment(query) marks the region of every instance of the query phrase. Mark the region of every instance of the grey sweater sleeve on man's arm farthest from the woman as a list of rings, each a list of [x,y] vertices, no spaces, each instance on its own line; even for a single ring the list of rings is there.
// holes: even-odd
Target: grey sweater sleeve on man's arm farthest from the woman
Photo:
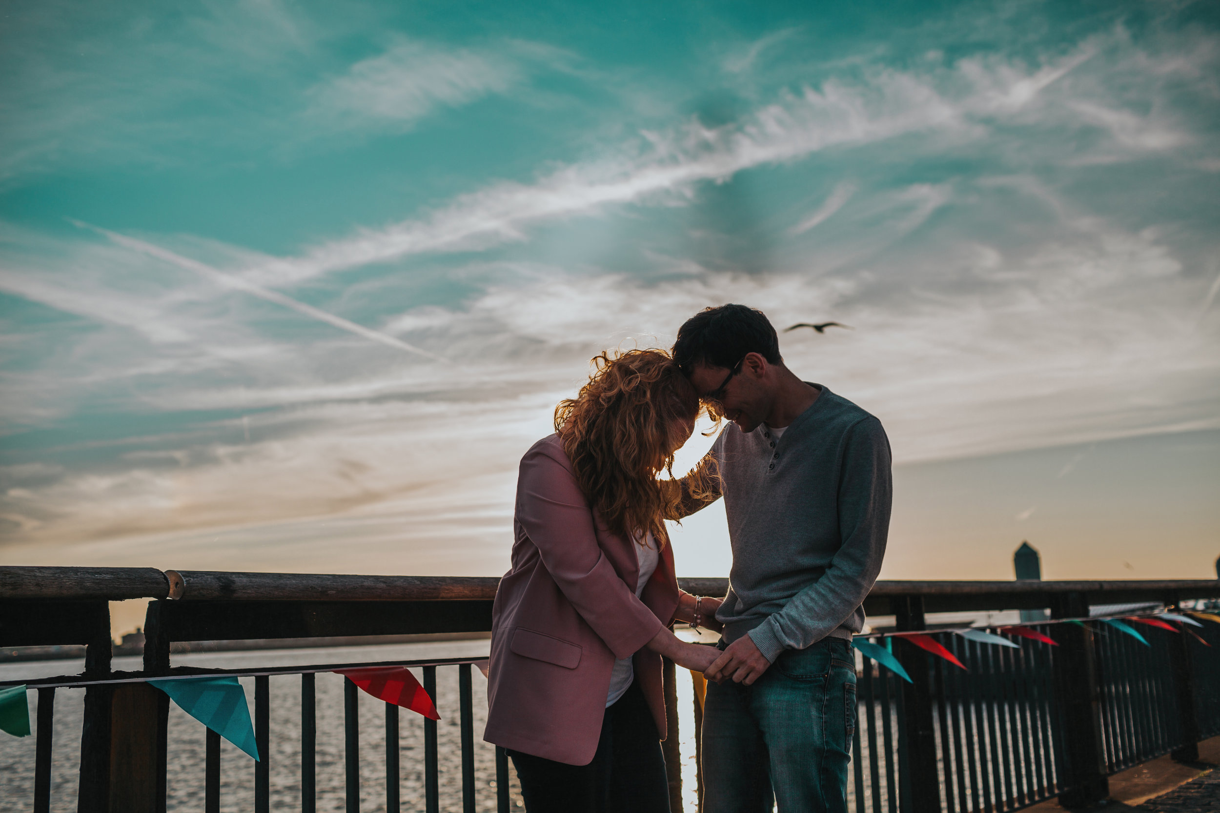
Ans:
[[[869,416],[843,439],[838,486],[842,546],[822,577],[749,631],[767,661],[783,650],[803,650],[838,629],[872,590],[889,531],[893,497],[889,440]]]

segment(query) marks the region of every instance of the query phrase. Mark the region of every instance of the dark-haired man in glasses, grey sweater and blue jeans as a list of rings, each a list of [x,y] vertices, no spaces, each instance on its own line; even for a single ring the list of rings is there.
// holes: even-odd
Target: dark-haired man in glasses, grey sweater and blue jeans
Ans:
[[[773,793],[780,813],[847,811],[852,634],[886,550],[889,441],[875,417],[784,367],[760,311],[695,314],[673,357],[737,424],[700,463],[719,470],[733,549],[716,609],[723,653],[706,672],[703,809],[762,813]],[[698,481],[686,480],[687,512],[717,496]]]

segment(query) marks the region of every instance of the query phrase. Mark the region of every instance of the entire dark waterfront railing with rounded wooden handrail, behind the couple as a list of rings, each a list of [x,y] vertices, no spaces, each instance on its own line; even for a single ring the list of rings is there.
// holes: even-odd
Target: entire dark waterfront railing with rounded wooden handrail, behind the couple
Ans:
[[[81,813],[155,813],[167,806],[168,697],[148,679],[194,674],[253,678],[254,811],[271,807],[271,776],[285,768],[271,740],[271,678],[300,680],[299,808],[316,809],[318,672],[387,664],[322,664],[215,670],[171,666],[170,645],[182,641],[300,639],[309,636],[470,633],[490,629],[497,579],[178,573],[151,569],[0,568],[0,646],[87,645],[82,675],[26,681],[38,689],[33,807],[50,811],[55,692],[84,687],[77,809]],[[723,579],[682,579],[698,595],[723,595]],[[111,669],[107,600],[150,597],[143,669]],[[1166,608],[1220,597],[1220,581],[882,581],[865,602],[871,616],[894,616],[898,630],[924,630],[927,613],[1050,608],[1054,618],[1088,616],[1091,605],[1150,601]],[[849,807],[858,813],[1009,811],[1058,796],[1066,806],[1104,798],[1107,776],[1172,752],[1197,758],[1196,744],[1220,733],[1220,627],[1197,630],[1211,647],[1186,635],[1148,628],[1150,646],[1118,630],[1087,625],[1037,627],[1059,646],[1026,642],[996,647],[958,635],[930,633],[969,670],[894,640],[911,683],[858,655],[856,725]],[[437,724],[422,725],[423,809],[442,800],[438,776],[447,756],[460,759],[461,808],[492,800],[476,781],[471,664],[478,658],[392,662],[422,669],[437,702],[437,669],[455,669],[460,747],[442,752]],[[681,809],[678,713],[673,664],[666,669],[670,741],[664,748],[671,803]],[[12,681],[9,681],[12,683]],[[344,792],[360,809],[360,695],[344,679]],[[364,702],[368,702],[365,698]],[[439,706],[439,705],[438,705]],[[448,709],[447,714],[451,714]],[[695,702],[695,734],[702,707]],[[414,724],[414,722],[412,722]],[[384,809],[401,809],[399,712],[386,705]],[[205,735],[205,811],[221,809],[221,741]],[[1193,751],[1192,751],[1193,750]],[[1193,756],[1192,756],[1193,753]],[[451,775],[451,774],[450,774]],[[494,809],[511,809],[508,758],[495,748]],[[174,776],[178,779],[178,776]],[[702,776],[694,778],[702,787]],[[455,789],[456,791],[456,789]],[[277,797],[278,798],[278,797]],[[279,800],[283,801],[282,798]],[[294,806],[296,802],[294,802]]]

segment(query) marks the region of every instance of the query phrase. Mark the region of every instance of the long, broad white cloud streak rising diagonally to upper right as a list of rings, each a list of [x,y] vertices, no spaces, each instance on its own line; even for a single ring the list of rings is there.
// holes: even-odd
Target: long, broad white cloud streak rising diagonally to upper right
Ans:
[[[459,196],[426,217],[362,229],[249,273],[265,284],[293,284],[412,255],[484,250],[522,241],[528,229],[548,221],[628,204],[688,200],[702,182],[723,180],[830,149],[859,149],[898,138],[926,138],[921,149],[930,150],[933,144],[982,143],[1000,124],[1042,127],[1047,133],[1103,127],[1113,135],[1109,154],[1125,150],[1128,158],[1186,143],[1186,134],[1166,129],[1159,119],[1087,101],[1108,98],[1098,89],[1096,76],[1082,80],[1080,88],[1063,84],[1065,77],[1086,66],[1100,74],[1113,67],[1108,60],[1133,59],[1125,52],[1103,60],[1097,56],[1099,48],[1094,38],[1039,67],[999,57],[969,59],[928,71],[874,69],[863,82],[830,79],[784,94],[739,122],[708,128],[692,121],[664,132],[645,132],[639,143],[611,150],[608,157],[561,167],[531,184],[495,184]],[[1147,62],[1153,57],[1138,59]],[[1046,98],[1057,88],[1060,91],[1054,98]],[[1055,141],[1047,149],[1043,161],[1078,160],[1075,155],[1057,156],[1060,147]],[[925,216],[935,211],[932,204],[928,199],[931,208]]]

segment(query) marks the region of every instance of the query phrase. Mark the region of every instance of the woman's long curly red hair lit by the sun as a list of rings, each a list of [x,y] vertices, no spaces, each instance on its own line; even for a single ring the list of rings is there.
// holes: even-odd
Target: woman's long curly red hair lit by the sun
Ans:
[[[590,363],[580,394],[555,407],[555,431],[610,531],[640,544],[651,531],[664,547],[664,518],[676,514],[680,494],[658,474],[673,477],[670,433],[699,417],[698,392],[664,350],[601,352]]]

